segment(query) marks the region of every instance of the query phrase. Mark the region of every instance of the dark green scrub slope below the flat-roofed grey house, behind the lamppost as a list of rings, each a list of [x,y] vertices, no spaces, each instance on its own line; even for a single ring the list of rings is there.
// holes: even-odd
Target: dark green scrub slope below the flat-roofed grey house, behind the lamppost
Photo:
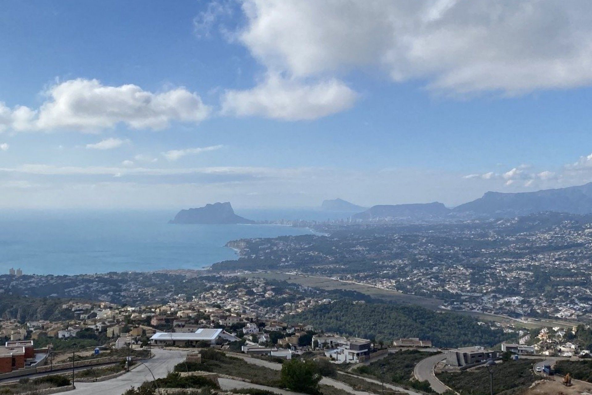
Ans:
[[[517,395],[539,380],[532,367],[536,359],[519,359],[497,364],[493,374],[493,391],[497,395]],[[440,373],[437,377],[462,395],[488,395],[490,375],[485,367],[462,372]]]

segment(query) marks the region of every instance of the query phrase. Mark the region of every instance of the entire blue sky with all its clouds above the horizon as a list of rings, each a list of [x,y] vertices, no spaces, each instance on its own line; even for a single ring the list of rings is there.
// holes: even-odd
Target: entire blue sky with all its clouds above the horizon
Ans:
[[[592,181],[584,0],[14,0],[0,48],[0,208]]]

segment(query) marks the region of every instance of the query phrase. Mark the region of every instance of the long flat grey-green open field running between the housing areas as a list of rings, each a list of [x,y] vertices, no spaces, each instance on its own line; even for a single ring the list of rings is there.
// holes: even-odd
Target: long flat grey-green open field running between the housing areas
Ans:
[[[372,285],[359,284],[357,282],[334,280],[328,277],[304,276],[282,272],[258,272],[242,274],[244,277],[270,278],[273,280],[284,280],[294,284],[301,284],[306,287],[321,288],[323,290],[348,290],[358,291],[371,297],[380,298],[384,301],[400,304],[416,304],[426,309],[437,310],[442,300],[435,298],[424,298],[420,296],[407,295],[398,291],[384,288],[372,287]]]

